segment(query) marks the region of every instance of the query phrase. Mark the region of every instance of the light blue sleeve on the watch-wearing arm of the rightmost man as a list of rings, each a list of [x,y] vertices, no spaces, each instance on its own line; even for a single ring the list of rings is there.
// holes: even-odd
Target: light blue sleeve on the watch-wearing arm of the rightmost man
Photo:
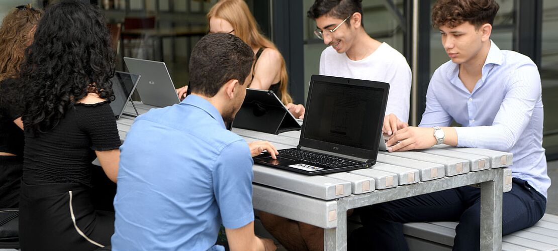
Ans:
[[[531,120],[535,105],[541,101],[541,78],[532,62],[512,71],[506,96],[492,125],[455,127],[458,147],[490,148],[507,152]],[[542,105],[542,104],[541,104]]]

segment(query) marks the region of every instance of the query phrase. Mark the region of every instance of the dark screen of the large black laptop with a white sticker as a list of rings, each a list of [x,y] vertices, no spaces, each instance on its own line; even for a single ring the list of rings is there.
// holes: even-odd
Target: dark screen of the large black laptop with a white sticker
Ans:
[[[314,80],[303,138],[373,150],[386,89]],[[309,129],[311,128],[311,129]]]

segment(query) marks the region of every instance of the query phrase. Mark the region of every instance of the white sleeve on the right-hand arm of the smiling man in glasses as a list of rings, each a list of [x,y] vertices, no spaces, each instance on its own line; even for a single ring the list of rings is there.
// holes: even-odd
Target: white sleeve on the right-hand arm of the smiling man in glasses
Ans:
[[[411,68],[405,60],[396,60],[392,66],[393,76],[389,80],[386,115],[393,113],[403,122],[409,120],[411,105]]]

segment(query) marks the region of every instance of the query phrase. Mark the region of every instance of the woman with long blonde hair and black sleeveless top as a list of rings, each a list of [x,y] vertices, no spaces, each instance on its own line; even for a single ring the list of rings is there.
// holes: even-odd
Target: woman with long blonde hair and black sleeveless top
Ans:
[[[277,47],[259,32],[256,19],[244,0],[221,0],[207,15],[210,33],[230,33],[246,42],[254,51],[250,88],[272,90],[297,118],[304,117],[304,107],[293,104],[287,92],[288,75],[285,60]],[[178,90],[184,96],[186,87]]]

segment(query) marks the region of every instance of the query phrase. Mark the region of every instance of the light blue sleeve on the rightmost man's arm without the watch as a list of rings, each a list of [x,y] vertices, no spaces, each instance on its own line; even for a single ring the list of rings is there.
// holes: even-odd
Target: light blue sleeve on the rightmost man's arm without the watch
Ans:
[[[443,78],[438,70],[432,75],[430,83],[428,85],[428,90],[426,91],[426,110],[422,114],[422,119],[419,127],[447,127],[453,121],[444,107],[440,104],[439,100],[436,98],[436,85],[443,83]]]

